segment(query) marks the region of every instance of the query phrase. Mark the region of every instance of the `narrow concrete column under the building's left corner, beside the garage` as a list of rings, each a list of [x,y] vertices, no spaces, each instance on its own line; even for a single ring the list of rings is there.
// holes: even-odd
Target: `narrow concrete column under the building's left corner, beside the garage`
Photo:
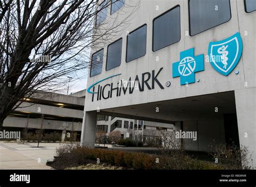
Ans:
[[[86,147],[93,148],[95,146],[96,134],[96,111],[85,112],[83,117],[83,125],[81,132],[81,144]]]

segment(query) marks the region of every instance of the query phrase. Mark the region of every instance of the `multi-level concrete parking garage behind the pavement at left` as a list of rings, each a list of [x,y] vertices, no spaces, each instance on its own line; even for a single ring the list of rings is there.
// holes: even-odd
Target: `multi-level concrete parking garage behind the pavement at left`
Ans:
[[[84,109],[84,98],[41,92],[24,98],[24,102],[4,120],[3,127],[8,130],[34,132],[58,132],[65,140],[67,132],[75,133],[80,139]]]

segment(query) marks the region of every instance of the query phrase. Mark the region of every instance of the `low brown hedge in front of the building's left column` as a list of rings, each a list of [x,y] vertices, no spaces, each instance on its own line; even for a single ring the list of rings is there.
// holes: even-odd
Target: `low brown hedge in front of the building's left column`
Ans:
[[[156,158],[145,153],[125,152],[122,150],[92,149],[80,145],[62,145],[56,150],[57,158],[53,162],[53,168],[64,169],[77,167],[88,163],[111,164],[131,169],[156,168]]]

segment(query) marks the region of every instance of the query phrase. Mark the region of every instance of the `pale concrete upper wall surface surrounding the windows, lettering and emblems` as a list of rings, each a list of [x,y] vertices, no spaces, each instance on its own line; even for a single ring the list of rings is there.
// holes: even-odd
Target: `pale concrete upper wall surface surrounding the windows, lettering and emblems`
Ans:
[[[158,100],[166,99],[175,99],[183,98],[197,95],[204,95],[208,93],[217,93],[230,90],[238,90],[244,88],[245,81],[250,83],[250,87],[255,87],[255,12],[245,13],[244,11],[244,1],[230,1],[231,4],[231,20],[227,23],[221,24],[210,30],[204,31],[200,34],[190,37],[186,35],[186,32],[189,31],[189,19],[188,19],[188,1],[187,0],[163,0],[163,1],[133,1],[127,0],[126,3],[129,5],[135,5],[139,2],[138,10],[133,14],[133,19],[127,27],[122,32],[116,34],[117,37],[108,41],[109,44],[112,41],[115,41],[117,38],[123,38],[122,45],[122,62],[119,67],[113,68],[109,71],[105,70],[106,66],[106,53],[107,45],[104,47],[104,60],[102,73],[93,77],[88,77],[87,85],[91,85],[103,78],[122,73],[122,75],[112,77],[108,80],[105,80],[103,85],[107,83],[116,83],[121,80],[129,80],[131,77],[132,80],[139,76],[141,80],[142,73],[151,72],[152,70],[158,71],[161,67],[164,67],[162,72],[158,76],[158,80],[161,84],[164,85],[165,89],[160,89],[158,85],[152,90],[145,88],[143,92],[135,90],[132,94],[122,95],[119,97],[113,96],[109,99],[102,99],[100,101],[92,100],[92,94],[86,95],[86,111],[96,110],[97,107],[102,109],[108,109],[118,106],[126,106],[133,104],[149,103],[156,102]],[[238,2],[238,4],[237,4]],[[160,49],[157,52],[152,52],[152,21],[161,13],[173,8],[176,5],[180,5],[180,29],[181,29],[181,39],[176,44]],[[156,6],[159,7],[159,10],[156,10]],[[126,10],[126,9],[125,9]],[[127,9],[129,11],[130,9]],[[112,15],[111,17],[117,16],[118,13]],[[239,16],[238,16],[239,15]],[[125,17],[125,14],[118,15],[118,20],[121,20]],[[139,18],[139,19],[136,19]],[[146,55],[140,57],[139,59],[133,60],[129,63],[125,62],[126,56],[126,31],[133,31],[134,29],[147,24],[147,49]],[[248,31],[248,35],[245,35],[244,32]],[[200,82],[193,84],[188,84],[188,87],[185,85],[180,85],[180,78],[172,78],[172,63],[180,60],[180,52],[194,48],[194,55],[204,54],[207,55],[208,44],[211,41],[219,41],[225,38],[230,37],[236,32],[240,32],[242,41],[244,44],[243,55],[240,59],[235,70],[239,70],[239,74],[236,75],[234,71],[228,76],[223,76],[215,71],[210,63],[207,63],[205,60],[205,70],[199,73],[196,73],[196,78],[200,79]],[[96,51],[96,49],[95,49]],[[246,55],[246,57],[244,57]],[[156,61],[156,58],[159,58],[159,61]],[[170,87],[166,87],[166,81],[171,82]],[[149,84],[151,81],[149,81]]]

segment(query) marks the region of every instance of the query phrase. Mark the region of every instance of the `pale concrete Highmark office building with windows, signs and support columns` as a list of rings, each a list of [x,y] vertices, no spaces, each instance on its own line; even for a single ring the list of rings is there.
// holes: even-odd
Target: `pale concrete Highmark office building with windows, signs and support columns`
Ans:
[[[197,131],[191,150],[213,141],[248,146],[255,166],[254,3],[125,0],[106,8],[99,30],[136,11],[108,44],[92,48],[100,68],[87,80],[82,143],[94,146],[97,114],[156,121]]]

